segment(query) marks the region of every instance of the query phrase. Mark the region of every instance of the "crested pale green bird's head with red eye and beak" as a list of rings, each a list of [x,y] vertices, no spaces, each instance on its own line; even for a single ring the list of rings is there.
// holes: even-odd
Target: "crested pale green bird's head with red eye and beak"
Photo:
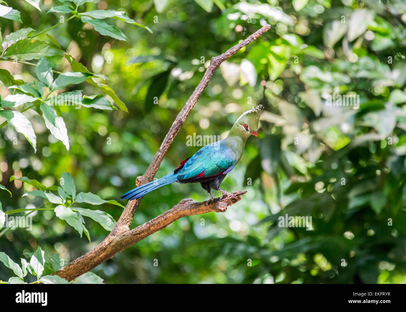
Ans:
[[[243,113],[231,128],[230,135],[238,135],[244,139],[247,139],[250,135],[256,137],[262,110],[263,106],[258,105]]]

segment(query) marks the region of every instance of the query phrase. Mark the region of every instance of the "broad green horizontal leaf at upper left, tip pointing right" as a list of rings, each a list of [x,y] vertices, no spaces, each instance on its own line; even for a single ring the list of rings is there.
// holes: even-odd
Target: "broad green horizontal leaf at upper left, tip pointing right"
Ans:
[[[63,56],[63,51],[49,42],[22,39],[13,43],[3,54],[2,58],[8,60],[16,57],[18,60],[39,60],[43,56]]]

